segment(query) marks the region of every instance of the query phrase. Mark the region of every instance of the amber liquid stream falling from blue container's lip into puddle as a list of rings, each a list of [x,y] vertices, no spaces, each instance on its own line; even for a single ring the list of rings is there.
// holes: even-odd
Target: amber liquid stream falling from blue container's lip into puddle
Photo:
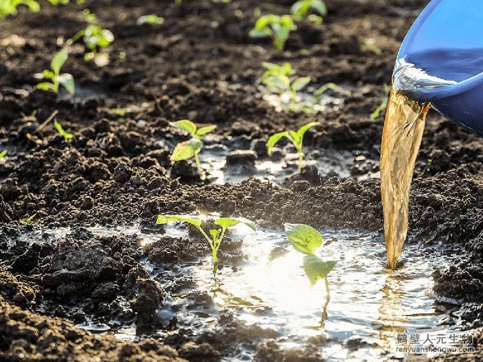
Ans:
[[[429,103],[391,89],[381,144],[381,194],[387,262],[396,268],[408,232],[411,179],[420,150]]]

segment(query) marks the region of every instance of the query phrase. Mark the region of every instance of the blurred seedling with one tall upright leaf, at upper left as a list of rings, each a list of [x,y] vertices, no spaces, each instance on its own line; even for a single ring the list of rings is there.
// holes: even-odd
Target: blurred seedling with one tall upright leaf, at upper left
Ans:
[[[51,90],[59,93],[59,86],[63,86],[70,94],[75,92],[74,77],[69,73],[60,72],[64,63],[69,57],[69,48],[62,48],[55,54],[50,61],[50,69],[43,70],[41,73],[34,74],[37,79],[47,79],[48,81],[37,84],[37,88],[41,90]]]

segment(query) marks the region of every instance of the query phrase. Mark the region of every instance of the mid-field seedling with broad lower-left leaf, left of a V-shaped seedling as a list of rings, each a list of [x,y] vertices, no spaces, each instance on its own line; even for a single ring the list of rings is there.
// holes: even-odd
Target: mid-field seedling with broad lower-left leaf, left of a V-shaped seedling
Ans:
[[[180,130],[188,132],[191,136],[189,141],[180,142],[176,145],[175,150],[172,151],[170,157],[171,161],[183,161],[195,157],[196,167],[198,168],[199,174],[201,174],[203,170],[199,163],[199,152],[201,152],[201,148],[203,148],[203,142],[200,138],[205,134],[213,132],[217,126],[207,125],[206,127],[198,128],[195,123],[188,119],[181,119],[170,124]]]

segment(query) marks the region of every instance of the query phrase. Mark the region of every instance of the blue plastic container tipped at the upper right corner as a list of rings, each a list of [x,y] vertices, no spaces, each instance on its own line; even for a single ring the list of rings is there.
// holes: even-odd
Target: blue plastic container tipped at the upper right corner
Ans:
[[[483,0],[433,0],[397,54],[394,88],[483,136]]]

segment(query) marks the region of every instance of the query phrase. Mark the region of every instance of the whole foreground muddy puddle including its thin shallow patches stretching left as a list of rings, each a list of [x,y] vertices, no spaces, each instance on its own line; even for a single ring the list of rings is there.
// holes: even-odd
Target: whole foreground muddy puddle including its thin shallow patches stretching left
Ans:
[[[136,234],[141,248],[166,235],[190,242],[186,228],[178,225],[166,225],[159,232],[137,226],[88,230],[95,237]],[[68,232],[51,230],[43,238],[58,239]],[[284,232],[240,227],[231,235],[233,241],[242,241],[237,257],[221,254],[216,276],[209,256],[161,265],[143,262],[168,293],[157,312],[164,326],[160,330],[139,334],[134,323],[119,321],[78,327],[112,333],[122,340],[152,336],[170,341],[177,333],[191,339],[219,333],[226,313],[242,325],[257,326],[250,343],[242,343],[223,361],[251,361],[257,345],[268,337],[282,350],[315,345],[328,361],[385,361],[404,358],[397,348],[410,345],[402,335],[408,341],[417,335],[420,341],[411,346],[424,347],[437,345],[438,336],[446,336],[447,341],[450,335],[460,334],[451,301],[437,301],[432,293],[433,270],[448,265],[455,250],[407,245],[400,268],[391,271],[385,268],[384,241],[379,235],[320,232],[324,245],[319,257],[337,260],[328,275],[329,294],[323,281],[309,285],[302,254],[288,243]],[[30,234],[28,239],[37,236]]]

